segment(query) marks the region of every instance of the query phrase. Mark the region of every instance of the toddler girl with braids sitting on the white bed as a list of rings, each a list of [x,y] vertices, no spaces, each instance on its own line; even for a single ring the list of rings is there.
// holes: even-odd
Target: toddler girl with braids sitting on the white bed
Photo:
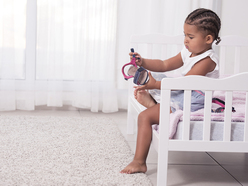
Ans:
[[[176,56],[167,60],[144,59],[138,53],[129,53],[136,56],[136,64],[154,72],[166,72],[183,66],[182,75],[202,75],[212,78],[219,77],[218,57],[212,49],[212,43],[220,42],[220,18],[208,9],[196,9],[188,15],[184,22],[184,47]],[[146,158],[152,140],[152,125],[159,123],[159,108],[147,89],[160,89],[161,81],[153,78],[149,73],[149,81],[142,86],[135,87],[134,96],[147,109],[138,116],[138,134],[136,151],[133,161],[121,173],[136,173],[147,171]],[[177,102],[179,109],[183,109],[183,91],[175,91],[171,95],[172,101]],[[204,96],[192,92],[191,111],[204,107]],[[173,111],[175,108],[171,107]]]

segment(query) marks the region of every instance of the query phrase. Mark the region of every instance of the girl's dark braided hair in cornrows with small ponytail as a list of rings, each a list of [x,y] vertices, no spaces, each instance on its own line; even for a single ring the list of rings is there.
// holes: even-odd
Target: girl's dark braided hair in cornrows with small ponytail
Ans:
[[[218,15],[212,10],[204,8],[196,9],[188,15],[185,23],[195,25],[199,30],[212,35],[214,40],[216,40],[216,45],[221,41],[219,37],[221,21]]]

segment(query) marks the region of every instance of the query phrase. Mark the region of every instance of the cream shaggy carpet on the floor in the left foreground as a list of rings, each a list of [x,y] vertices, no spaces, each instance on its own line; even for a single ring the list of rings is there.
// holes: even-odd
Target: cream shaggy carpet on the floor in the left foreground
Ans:
[[[0,116],[0,185],[152,185],[106,117]]]

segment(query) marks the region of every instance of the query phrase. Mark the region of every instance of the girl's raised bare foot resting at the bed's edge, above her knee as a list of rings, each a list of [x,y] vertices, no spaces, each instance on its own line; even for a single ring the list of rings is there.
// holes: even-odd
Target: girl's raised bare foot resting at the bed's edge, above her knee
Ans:
[[[154,99],[146,90],[134,90],[134,98],[144,107],[149,108],[156,105]]]

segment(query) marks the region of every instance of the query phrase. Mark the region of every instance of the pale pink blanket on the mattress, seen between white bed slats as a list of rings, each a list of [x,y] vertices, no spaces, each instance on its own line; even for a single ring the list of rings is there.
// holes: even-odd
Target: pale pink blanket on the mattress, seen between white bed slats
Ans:
[[[215,91],[213,94],[214,98],[219,98],[225,101],[225,92]],[[232,113],[232,121],[243,122],[245,119],[245,92],[233,92],[233,107],[236,112]],[[212,104],[213,108],[218,107],[216,104]],[[177,130],[179,121],[183,119],[183,111],[177,110],[170,114],[170,128],[169,138],[172,139]],[[203,121],[204,109],[200,109],[196,112],[191,112],[190,119],[192,121]],[[212,121],[224,121],[224,113],[211,113]],[[154,125],[153,128],[159,132],[159,125]]]

